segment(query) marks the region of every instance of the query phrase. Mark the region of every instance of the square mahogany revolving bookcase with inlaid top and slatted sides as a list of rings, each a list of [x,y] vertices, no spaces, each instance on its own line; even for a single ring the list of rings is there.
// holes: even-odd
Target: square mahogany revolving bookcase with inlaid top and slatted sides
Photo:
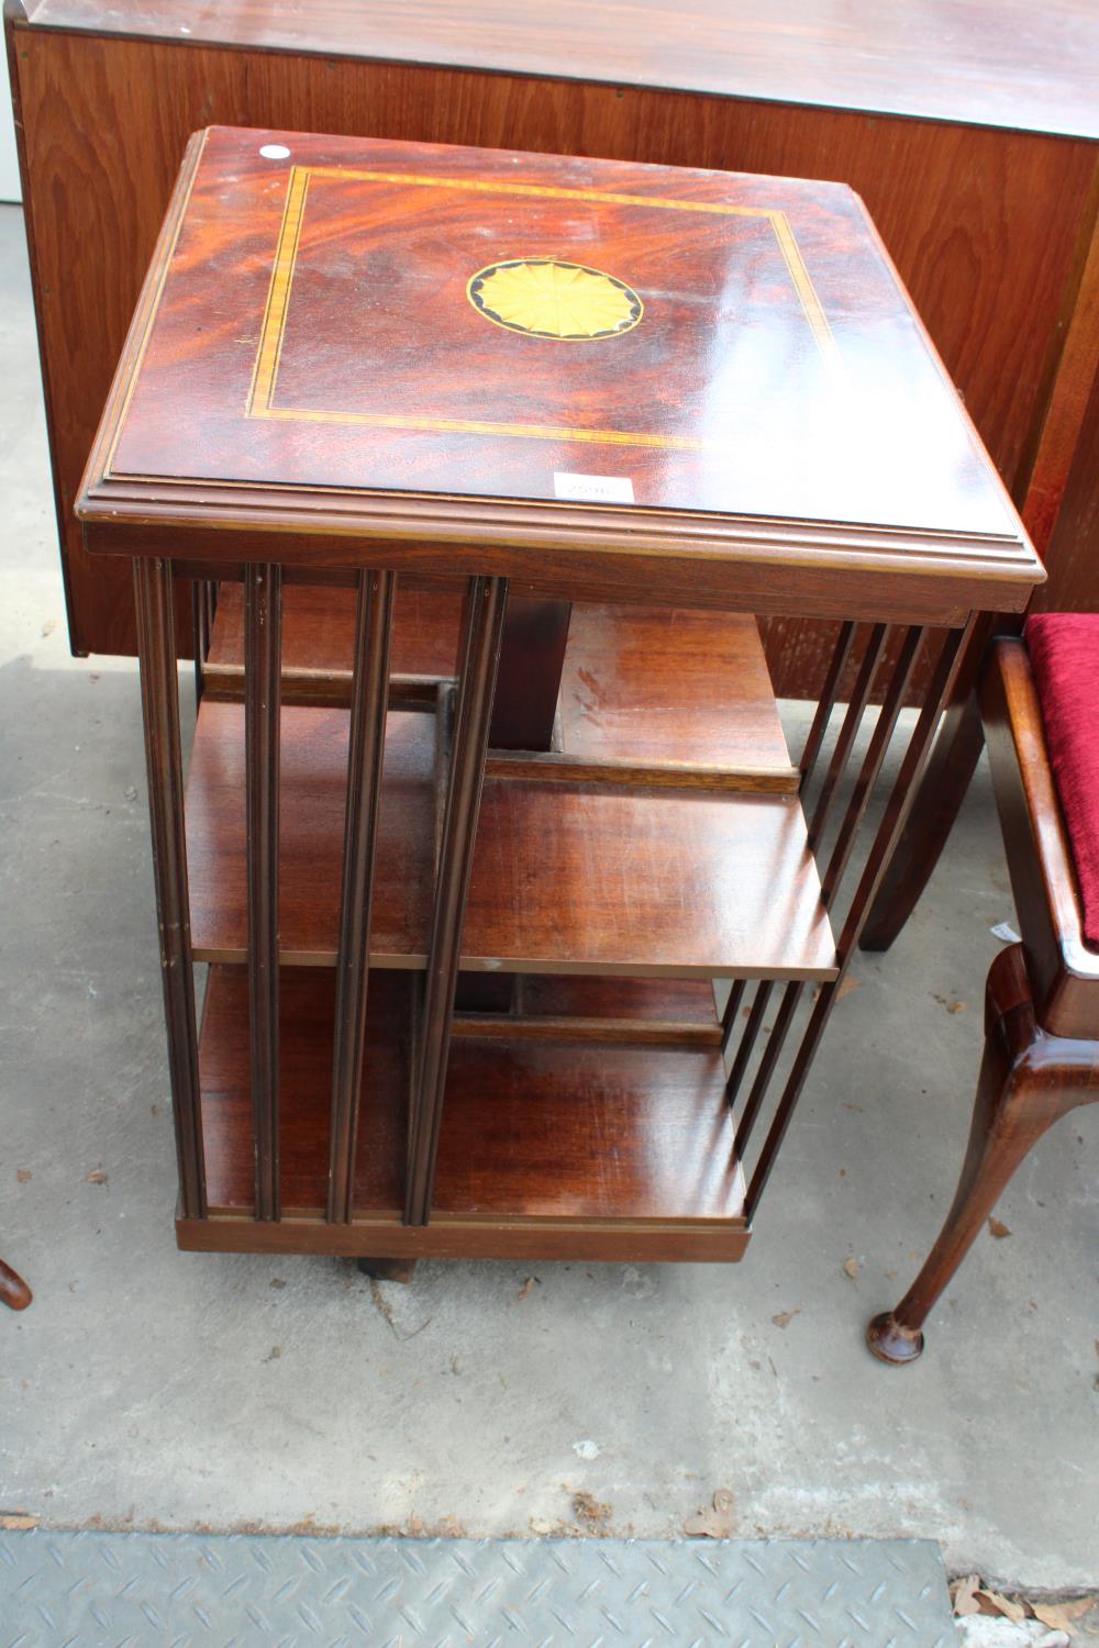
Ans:
[[[180,1244],[738,1259],[1043,577],[858,198],[198,133],[77,513],[135,569]],[[776,615],[834,633],[794,760]]]

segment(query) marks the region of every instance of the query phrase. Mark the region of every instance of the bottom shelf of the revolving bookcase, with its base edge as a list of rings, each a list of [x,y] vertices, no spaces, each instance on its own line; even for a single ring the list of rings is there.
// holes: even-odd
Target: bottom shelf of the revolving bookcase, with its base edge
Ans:
[[[735,1259],[748,1233],[732,1157],[720,1048],[644,1045],[646,1023],[684,1012],[659,982],[636,981],[606,1042],[458,1035],[438,1147],[432,1223],[400,1223],[412,992],[402,972],[371,976],[358,1139],[356,1218],[323,1218],[334,977],[283,969],[280,1172],[283,1218],[252,1208],[247,976],[213,967],[199,1050],[211,1216],[181,1220],[180,1246],[361,1256]],[[713,1014],[699,986],[697,1018]],[[598,1025],[596,984],[585,1022]],[[623,1012],[638,1043],[621,1040]],[[532,1015],[527,1015],[527,1023]]]

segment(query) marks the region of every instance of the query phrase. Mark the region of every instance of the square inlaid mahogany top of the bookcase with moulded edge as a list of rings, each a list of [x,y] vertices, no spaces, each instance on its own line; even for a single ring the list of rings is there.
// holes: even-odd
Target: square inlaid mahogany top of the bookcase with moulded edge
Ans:
[[[755,559],[957,610],[1041,577],[847,186],[227,127],[191,140],[79,513],[114,552]]]

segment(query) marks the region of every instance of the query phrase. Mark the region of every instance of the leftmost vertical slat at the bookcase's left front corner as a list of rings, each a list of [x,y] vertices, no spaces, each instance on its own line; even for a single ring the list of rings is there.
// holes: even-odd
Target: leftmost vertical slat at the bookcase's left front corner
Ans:
[[[180,753],[180,674],[175,649],[171,562],[133,562],[137,643],[142,661],[142,719],[148,771],[148,821],[153,839],[160,979],[168,1030],[171,1117],[180,1168],[183,1218],[206,1216],[206,1170],[194,1020],[191,901],[183,821]]]

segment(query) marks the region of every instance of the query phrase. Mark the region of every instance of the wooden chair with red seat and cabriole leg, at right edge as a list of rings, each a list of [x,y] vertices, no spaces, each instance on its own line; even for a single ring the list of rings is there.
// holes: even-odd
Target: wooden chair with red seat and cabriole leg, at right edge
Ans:
[[[985,987],[985,1051],[954,1205],[867,1341],[914,1361],[923,1322],[1053,1122],[1099,1099],[1099,616],[1045,613],[992,643],[980,691],[1022,943]]]

